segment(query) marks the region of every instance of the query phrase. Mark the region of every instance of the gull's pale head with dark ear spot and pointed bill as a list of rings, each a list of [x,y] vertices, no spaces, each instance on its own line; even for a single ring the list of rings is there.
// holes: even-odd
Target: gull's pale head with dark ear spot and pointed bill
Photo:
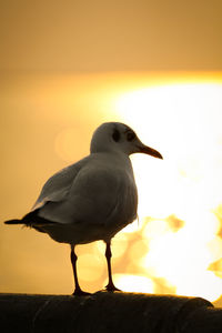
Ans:
[[[131,128],[120,122],[101,124],[92,135],[90,151],[91,153],[119,151],[128,155],[145,153],[162,159],[157,150],[143,144]]]

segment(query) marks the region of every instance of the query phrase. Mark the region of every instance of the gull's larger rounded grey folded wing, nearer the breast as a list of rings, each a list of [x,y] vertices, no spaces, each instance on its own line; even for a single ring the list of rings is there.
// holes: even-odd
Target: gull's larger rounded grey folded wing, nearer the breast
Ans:
[[[40,216],[60,223],[128,224],[137,215],[137,189],[124,171],[85,165],[65,200],[40,210]]]

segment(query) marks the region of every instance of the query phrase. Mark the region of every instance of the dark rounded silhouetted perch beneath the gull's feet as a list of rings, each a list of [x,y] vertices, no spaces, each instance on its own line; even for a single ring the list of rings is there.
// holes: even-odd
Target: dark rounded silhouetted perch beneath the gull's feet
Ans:
[[[222,309],[199,297],[98,292],[0,294],[0,332],[221,333]]]

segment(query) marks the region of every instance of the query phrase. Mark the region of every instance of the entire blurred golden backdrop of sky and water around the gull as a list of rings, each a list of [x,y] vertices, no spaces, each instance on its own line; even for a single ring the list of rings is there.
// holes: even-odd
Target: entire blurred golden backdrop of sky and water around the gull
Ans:
[[[222,271],[221,7],[215,0],[1,1],[1,221],[27,213],[53,172],[88,154],[97,125],[125,121],[167,162],[133,160],[143,202],[141,221],[113,244],[117,280],[125,273],[129,290],[144,284],[148,292],[205,297],[214,284],[215,301]],[[189,201],[194,190],[210,193],[198,209]],[[188,215],[176,198],[186,202]],[[180,248],[176,232],[190,225],[192,214],[198,230],[192,253],[199,253],[198,262],[206,259],[198,272],[195,261],[182,263],[190,260],[186,239],[188,249],[170,265],[173,249]],[[212,239],[199,239],[202,225],[209,225],[200,223],[202,218],[212,216],[218,221],[210,224]],[[173,243],[171,236],[178,243],[168,252],[161,244]],[[103,246],[78,251],[81,284],[89,291],[101,289],[107,276]],[[170,272],[159,262],[163,253]],[[208,271],[208,263],[214,275],[206,272],[206,293],[195,285],[183,289],[185,279],[201,281],[198,273]],[[174,281],[171,271],[181,265],[189,276]],[[33,230],[0,225],[0,268],[1,292],[71,293],[73,287],[68,246]]]

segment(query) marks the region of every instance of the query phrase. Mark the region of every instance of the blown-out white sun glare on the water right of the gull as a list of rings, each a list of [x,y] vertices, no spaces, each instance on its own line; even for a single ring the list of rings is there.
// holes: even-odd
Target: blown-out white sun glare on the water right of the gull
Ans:
[[[139,265],[151,278],[149,291],[154,291],[152,279],[160,278],[178,294],[216,300],[222,275],[209,266],[222,253],[214,213],[222,203],[222,84],[141,89],[120,97],[115,109],[164,158],[132,158],[140,220],[152,216],[140,224],[149,252]],[[173,219],[182,222],[178,230],[169,228]],[[142,278],[134,279],[118,276],[131,291],[143,284]]]

